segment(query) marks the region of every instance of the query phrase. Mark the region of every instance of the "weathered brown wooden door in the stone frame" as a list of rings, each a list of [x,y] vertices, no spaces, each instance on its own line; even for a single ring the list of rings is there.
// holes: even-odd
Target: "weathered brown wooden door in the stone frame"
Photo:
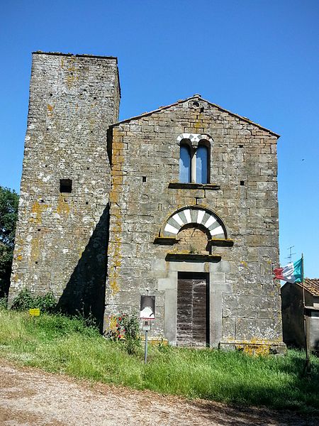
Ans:
[[[177,345],[209,343],[208,277],[205,273],[179,273],[177,283]]]

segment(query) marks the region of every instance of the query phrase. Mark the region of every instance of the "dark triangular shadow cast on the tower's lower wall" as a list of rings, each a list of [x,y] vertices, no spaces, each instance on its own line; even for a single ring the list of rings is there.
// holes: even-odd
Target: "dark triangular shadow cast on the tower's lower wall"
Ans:
[[[105,307],[109,209],[108,204],[57,303],[57,308],[66,314],[91,315],[101,332]]]

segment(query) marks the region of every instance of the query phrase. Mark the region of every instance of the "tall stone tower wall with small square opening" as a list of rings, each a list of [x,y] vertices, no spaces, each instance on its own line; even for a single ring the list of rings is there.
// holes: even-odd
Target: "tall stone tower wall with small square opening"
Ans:
[[[116,58],[33,53],[10,302],[22,288],[52,290],[61,307],[103,317],[119,101]]]

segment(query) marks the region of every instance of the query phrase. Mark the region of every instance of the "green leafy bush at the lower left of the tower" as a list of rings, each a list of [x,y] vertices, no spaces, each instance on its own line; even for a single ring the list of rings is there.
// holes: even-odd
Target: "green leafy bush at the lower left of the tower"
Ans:
[[[34,296],[28,288],[24,288],[13,300],[11,309],[23,311],[33,308],[40,309],[41,312],[52,313],[55,312],[57,302],[52,292],[44,296]]]

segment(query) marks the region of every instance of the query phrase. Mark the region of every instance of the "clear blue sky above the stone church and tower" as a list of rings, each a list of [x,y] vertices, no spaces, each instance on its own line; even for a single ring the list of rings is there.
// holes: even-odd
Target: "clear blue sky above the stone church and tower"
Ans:
[[[281,263],[319,278],[318,0],[0,0],[0,185],[19,189],[33,50],[118,57],[124,119],[200,93],[281,134]]]

